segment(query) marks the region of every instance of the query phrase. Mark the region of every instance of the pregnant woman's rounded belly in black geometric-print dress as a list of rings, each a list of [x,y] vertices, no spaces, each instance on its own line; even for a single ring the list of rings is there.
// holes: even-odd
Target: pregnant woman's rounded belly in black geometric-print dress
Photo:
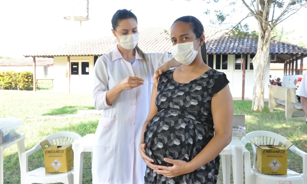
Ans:
[[[209,135],[210,134],[210,135]],[[146,154],[157,165],[172,166],[163,158],[192,160],[212,138],[204,123],[172,111],[160,111],[146,127]]]

